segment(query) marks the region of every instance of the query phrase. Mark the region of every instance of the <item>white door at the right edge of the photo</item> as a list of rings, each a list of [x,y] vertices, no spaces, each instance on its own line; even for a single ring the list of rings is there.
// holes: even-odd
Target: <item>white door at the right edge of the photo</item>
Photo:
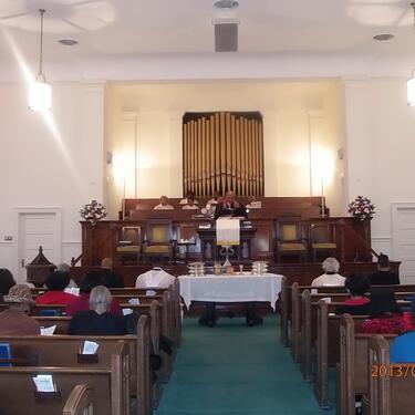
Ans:
[[[393,259],[402,261],[402,283],[415,283],[415,204],[393,204]]]

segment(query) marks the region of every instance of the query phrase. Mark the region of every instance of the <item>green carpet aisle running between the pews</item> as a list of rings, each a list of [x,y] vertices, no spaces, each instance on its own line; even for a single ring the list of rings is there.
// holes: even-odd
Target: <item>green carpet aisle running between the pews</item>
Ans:
[[[311,385],[278,339],[274,318],[200,326],[185,319],[173,376],[155,415],[322,415]]]

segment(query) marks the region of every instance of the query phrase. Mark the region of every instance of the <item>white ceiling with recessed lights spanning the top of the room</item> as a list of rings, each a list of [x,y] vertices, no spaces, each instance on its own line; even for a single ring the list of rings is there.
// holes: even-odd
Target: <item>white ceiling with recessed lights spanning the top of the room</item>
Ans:
[[[221,11],[212,0],[0,0],[0,79],[18,77],[17,62],[35,71],[40,8],[51,79],[403,74],[415,63],[409,2],[240,0]],[[212,20],[221,18],[240,22],[235,54],[214,53]],[[385,32],[395,39],[372,40]]]

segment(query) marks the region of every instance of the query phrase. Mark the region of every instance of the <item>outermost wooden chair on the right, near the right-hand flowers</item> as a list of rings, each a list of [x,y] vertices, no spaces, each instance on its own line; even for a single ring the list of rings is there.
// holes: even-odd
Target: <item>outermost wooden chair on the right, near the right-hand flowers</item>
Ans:
[[[336,257],[338,243],[334,222],[315,222],[310,225],[310,248],[313,261],[325,257]]]

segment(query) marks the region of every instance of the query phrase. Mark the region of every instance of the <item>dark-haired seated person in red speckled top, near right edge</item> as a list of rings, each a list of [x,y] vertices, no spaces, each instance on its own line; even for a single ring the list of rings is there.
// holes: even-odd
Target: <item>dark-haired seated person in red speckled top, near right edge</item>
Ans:
[[[411,330],[391,290],[372,289],[369,315],[360,326],[362,333],[401,334]]]

